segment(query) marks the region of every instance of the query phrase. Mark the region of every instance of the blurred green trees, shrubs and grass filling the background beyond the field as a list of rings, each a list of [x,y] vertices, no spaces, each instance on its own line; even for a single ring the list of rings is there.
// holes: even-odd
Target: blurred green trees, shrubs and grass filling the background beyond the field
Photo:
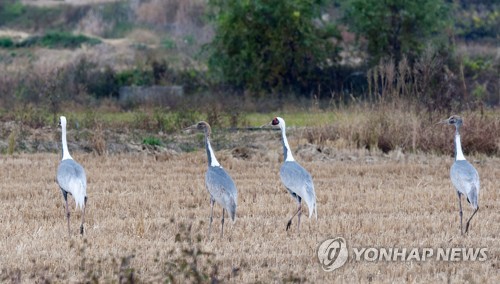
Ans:
[[[483,125],[497,129],[499,21],[495,1],[7,0],[0,119],[36,129],[65,113],[80,127],[174,133],[197,119],[235,128],[275,114],[341,129],[353,112],[372,116],[357,138],[342,137],[354,139],[349,145],[442,151],[417,138],[411,147],[407,138],[395,142],[407,129],[382,126],[406,111],[420,125],[463,114],[477,137]],[[183,95],[162,104],[120,100],[125,86],[153,85],[182,86]],[[294,119],[307,115],[312,123]],[[341,136],[330,132],[311,143]],[[153,143],[148,137],[137,141]],[[497,139],[491,143],[474,151],[498,153]]]

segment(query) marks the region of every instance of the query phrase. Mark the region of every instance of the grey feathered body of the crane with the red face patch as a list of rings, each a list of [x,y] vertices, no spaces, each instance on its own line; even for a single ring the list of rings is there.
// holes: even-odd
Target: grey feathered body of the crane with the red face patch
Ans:
[[[297,162],[285,161],[280,169],[280,177],[285,188],[297,202],[300,202],[298,197],[304,199],[309,209],[309,217],[312,216],[313,210],[317,216],[316,193],[311,174]]]

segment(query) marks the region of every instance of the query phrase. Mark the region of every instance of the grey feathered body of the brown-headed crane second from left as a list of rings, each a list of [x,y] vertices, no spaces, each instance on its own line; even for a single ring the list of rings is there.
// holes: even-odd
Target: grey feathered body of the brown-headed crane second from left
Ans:
[[[208,166],[205,185],[210,196],[227,210],[234,221],[238,192],[233,179],[220,166]]]

